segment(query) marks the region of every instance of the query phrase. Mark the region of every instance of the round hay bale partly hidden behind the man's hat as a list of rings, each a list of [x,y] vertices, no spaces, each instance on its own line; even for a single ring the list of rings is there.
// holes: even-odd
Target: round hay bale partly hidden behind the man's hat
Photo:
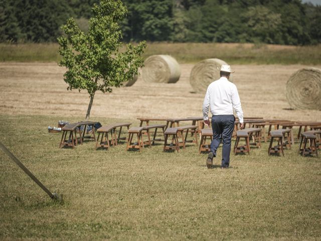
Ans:
[[[220,78],[220,71],[217,67],[221,68],[222,64],[227,64],[221,59],[205,59],[197,63],[190,75],[190,83],[197,93],[202,93],[207,90],[210,83]],[[232,74],[229,81],[232,82]]]

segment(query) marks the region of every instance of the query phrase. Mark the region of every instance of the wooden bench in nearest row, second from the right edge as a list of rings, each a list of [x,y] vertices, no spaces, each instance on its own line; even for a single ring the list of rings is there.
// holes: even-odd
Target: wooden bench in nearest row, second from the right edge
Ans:
[[[268,149],[268,155],[270,156],[271,153],[282,153],[284,157],[283,147],[285,146],[288,149],[291,149],[291,135],[292,129],[278,129],[275,131],[270,132],[271,140]],[[287,142],[283,143],[285,139],[285,135],[287,134]],[[274,138],[277,138],[277,145],[272,147]]]

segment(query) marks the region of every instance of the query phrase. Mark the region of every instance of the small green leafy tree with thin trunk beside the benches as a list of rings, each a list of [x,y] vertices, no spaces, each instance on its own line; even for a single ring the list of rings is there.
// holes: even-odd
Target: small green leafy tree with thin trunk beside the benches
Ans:
[[[146,47],[145,41],[136,46],[127,44],[126,50],[120,51],[123,45],[118,22],[126,12],[120,0],[101,0],[92,8],[93,16],[89,19],[86,34],[73,18],[61,27],[65,36],[58,38],[58,52],[62,56],[58,65],[68,69],[64,74],[68,90],[88,91],[90,101],[86,120],[97,90],[112,92],[112,87],[120,87],[143,66],[141,55]]]

